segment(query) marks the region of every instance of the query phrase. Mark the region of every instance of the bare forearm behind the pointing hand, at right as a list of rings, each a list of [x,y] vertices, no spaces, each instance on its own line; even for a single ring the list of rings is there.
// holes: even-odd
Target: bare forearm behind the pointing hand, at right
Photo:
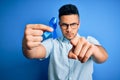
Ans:
[[[108,58],[108,54],[107,52],[105,51],[105,49],[101,46],[95,46],[96,49],[94,50],[94,53],[93,53],[93,60],[96,62],[96,63],[103,63],[107,60]]]

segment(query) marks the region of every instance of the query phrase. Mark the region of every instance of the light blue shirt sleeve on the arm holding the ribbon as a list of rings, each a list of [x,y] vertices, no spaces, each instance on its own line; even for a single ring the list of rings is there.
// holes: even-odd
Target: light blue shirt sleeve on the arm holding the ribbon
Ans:
[[[47,58],[50,55],[50,53],[52,52],[52,49],[53,49],[53,39],[52,38],[47,39],[47,40],[43,41],[41,44],[46,49],[46,56],[45,56],[45,58]]]

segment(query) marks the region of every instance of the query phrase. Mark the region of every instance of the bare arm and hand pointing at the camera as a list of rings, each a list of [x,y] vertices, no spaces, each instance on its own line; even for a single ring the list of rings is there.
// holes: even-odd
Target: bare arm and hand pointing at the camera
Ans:
[[[86,62],[90,57],[96,63],[102,63],[107,60],[107,52],[98,45],[89,43],[85,38],[75,37],[71,40],[73,48],[70,50],[68,57],[78,59],[82,63]]]

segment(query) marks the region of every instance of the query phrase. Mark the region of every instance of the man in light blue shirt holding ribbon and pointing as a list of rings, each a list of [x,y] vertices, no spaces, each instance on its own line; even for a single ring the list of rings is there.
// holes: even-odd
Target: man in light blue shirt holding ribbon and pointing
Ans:
[[[44,31],[53,29],[43,24],[28,24],[23,39],[24,55],[31,59],[50,56],[49,80],[92,80],[93,61],[106,61],[106,51],[93,37],[85,39],[78,34],[80,20],[75,5],[62,6],[59,20],[63,36],[45,41],[42,41]]]

